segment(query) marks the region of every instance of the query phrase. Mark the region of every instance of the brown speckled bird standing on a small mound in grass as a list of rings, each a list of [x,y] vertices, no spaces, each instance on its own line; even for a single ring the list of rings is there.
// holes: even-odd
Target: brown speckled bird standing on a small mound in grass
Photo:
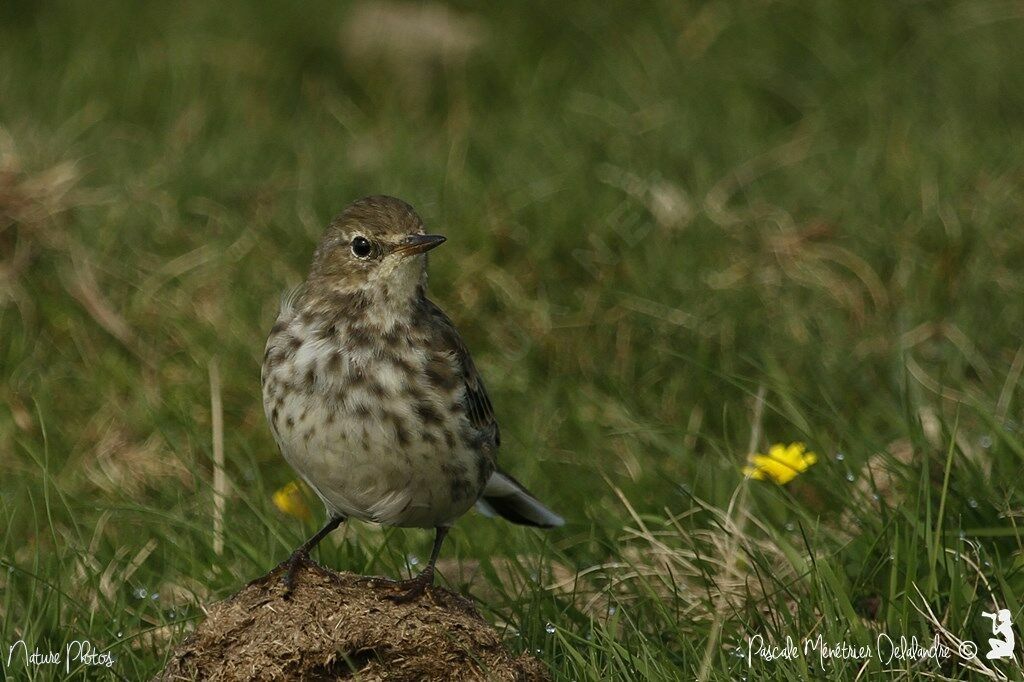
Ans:
[[[286,595],[310,551],[347,519],[434,530],[419,574],[384,579],[394,601],[433,584],[449,529],[474,505],[518,524],[564,523],[498,466],[501,433],[483,380],[427,297],[427,252],[444,242],[406,202],[360,199],[330,222],[305,282],[282,299],[263,356],[263,406],[284,459],[327,511],[278,567]]]

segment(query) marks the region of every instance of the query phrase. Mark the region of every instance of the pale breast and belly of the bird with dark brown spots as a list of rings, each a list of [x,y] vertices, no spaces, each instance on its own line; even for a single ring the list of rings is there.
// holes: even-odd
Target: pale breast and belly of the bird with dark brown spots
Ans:
[[[263,401],[282,453],[329,506],[395,525],[437,524],[473,504],[489,475],[454,358],[415,333],[375,337],[293,322],[267,343]],[[443,374],[443,373],[442,373]]]

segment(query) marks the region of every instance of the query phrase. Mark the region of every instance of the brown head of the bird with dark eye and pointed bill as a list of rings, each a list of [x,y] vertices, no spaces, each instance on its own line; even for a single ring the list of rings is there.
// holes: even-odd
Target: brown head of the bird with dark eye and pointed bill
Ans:
[[[444,243],[426,235],[413,207],[393,197],[353,202],[331,221],[313,254],[309,283],[341,294],[411,298],[424,285],[424,254]]]

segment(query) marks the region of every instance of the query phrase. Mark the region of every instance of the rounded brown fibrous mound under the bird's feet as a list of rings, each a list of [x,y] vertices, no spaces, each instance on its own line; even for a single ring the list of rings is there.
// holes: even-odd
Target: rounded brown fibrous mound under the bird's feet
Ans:
[[[157,680],[548,680],[514,655],[470,601],[430,588],[411,603],[389,586],[305,567],[284,598],[280,574],[213,605]]]

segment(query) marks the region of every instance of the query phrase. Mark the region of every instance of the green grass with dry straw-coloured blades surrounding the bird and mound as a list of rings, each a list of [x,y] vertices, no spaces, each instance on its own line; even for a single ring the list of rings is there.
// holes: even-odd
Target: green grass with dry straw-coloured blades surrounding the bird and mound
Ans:
[[[852,678],[742,656],[1024,623],[1020,8],[460,11],[468,55],[426,30],[382,55],[339,3],[0,5],[0,652],[88,638],[152,676],[312,531],[271,502],[259,363],[324,225],[378,193],[449,236],[431,289],[503,465],[568,519],[471,514],[443,557],[558,679]],[[820,460],[744,482],[752,437]],[[396,574],[429,542],[353,525],[321,557]],[[958,660],[862,679],[986,677]]]

